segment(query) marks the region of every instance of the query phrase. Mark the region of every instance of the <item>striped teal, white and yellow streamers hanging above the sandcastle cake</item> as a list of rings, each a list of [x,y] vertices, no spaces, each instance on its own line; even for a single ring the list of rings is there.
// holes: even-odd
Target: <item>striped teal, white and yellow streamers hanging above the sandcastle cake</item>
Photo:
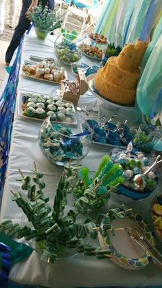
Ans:
[[[120,47],[125,43],[135,43],[141,32],[143,40],[149,40],[161,9],[161,0],[107,0],[95,32],[104,34],[108,41]]]

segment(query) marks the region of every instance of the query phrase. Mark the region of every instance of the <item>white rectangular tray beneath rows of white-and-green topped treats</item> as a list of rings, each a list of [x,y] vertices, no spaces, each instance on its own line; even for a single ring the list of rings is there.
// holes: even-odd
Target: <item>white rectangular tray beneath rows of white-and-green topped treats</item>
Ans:
[[[23,115],[23,109],[22,109],[22,105],[23,105],[23,100],[26,98],[26,95],[27,95],[27,93],[30,93],[30,92],[25,92],[25,91],[21,91],[20,93],[18,93],[18,114],[21,116],[21,117],[23,117],[23,118],[26,118],[26,119],[32,119],[32,120],[38,120],[38,121],[44,121],[46,118],[43,118],[43,119],[40,119],[40,118],[36,118],[36,116],[35,117],[28,117],[27,115]],[[31,92],[31,94],[34,94],[34,95],[38,95],[38,96],[43,96],[43,98],[46,98],[47,96],[49,96],[49,95],[45,95],[45,94],[40,94],[40,93],[32,93]],[[53,97],[53,98],[55,98],[55,96],[50,96],[50,97]],[[28,98],[30,98],[30,96],[28,96]],[[71,118],[71,122],[70,122],[70,124],[74,124],[74,125],[76,125],[77,123],[78,123],[78,121],[77,121],[77,119],[76,119],[76,113],[75,113],[75,108],[74,108],[74,106],[73,106],[73,103],[72,102],[69,102],[69,101],[65,101],[65,100],[63,100],[62,102],[64,102],[65,104],[66,103],[70,103],[71,104],[71,106],[72,106],[72,109],[73,109],[73,116],[72,117],[70,117],[70,116],[66,116],[66,118]],[[55,111],[55,112],[58,112],[58,111]],[[54,113],[55,113],[54,112]],[[61,112],[61,111],[60,111]],[[64,122],[62,122],[62,123],[69,123],[68,121],[64,121]]]

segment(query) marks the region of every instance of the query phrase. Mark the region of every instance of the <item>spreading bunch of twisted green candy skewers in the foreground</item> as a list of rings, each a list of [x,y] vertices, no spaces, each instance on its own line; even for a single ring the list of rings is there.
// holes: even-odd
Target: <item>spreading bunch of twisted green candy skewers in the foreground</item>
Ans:
[[[114,233],[113,226],[110,223],[115,217],[125,217],[124,207],[122,208],[123,213],[120,209],[111,209],[106,214],[97,214],[95,221],[86,219],[82,223],[76,222],[76,218],[80,213],[86,214],[89,209],[89,202],[93,199],[95,203],[98,199],[97,190],[102,186],[103,170],[107,170],[106,167],[110,166],[109,162],[110,160],[107,158],[102,170],[100,169],[100,173],[97,173],[98,177],[84,190],[84,196],[74,203],[73,208],[69,209],[66,215],[67,195],[71,192],[71,181],[78,177],[78,169],[80,169],[78,166],[65,166],[58,182],[53,208],[49,207],[49,197],[43,193],[45,182],[42,181],[43,174],[37,170],[36,165],[35,169],[32,170],[34,173],[32,179],[30,176],[24,177],[21,170],[19,170],[22,178],[18,181],[23,181],[21,188],[27,191],[27,198],[19,191],[12,192],[12,201],[16,201],[17,205],[26,214],[28,221],[32,222],[33,228],[29,228],[27,225],[21,227],[19,224],[12,223],[11,220],[5,220],[0,224],[0,232],[4,231],[6,235],[14,236],[17,239],[22,237],[25,237],[27,241],[35,239],[38,245],[43,244],[41,259],[48,263],[54,262],[58,258],[60,246],[62,245],[69,248],[76,247],[78,252],[95,255],[97,258],[111,256],[110,250],[101,250],[99,247],[84,245],[82,239],[87,236],[95,238],[98,231],[104,237],[108,236],[108,230]],[[102,177],[100,177],[101,175]],[[109,193],[109,188],[109,186],[106,188],[107,193]]]

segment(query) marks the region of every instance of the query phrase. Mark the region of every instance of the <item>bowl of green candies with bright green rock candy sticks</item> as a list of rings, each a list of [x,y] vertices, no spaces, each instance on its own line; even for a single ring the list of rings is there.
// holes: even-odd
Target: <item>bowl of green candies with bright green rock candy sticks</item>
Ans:
[[[79,208],[84,202],[89,210],[104,206],[111,196],[111,189],[124,181],[122,174],[122,168],[113,164],[108,155],[102,158],[96,172],[89,171],[88,167],[78,168],[78,177],[72,184],[75,207]]]

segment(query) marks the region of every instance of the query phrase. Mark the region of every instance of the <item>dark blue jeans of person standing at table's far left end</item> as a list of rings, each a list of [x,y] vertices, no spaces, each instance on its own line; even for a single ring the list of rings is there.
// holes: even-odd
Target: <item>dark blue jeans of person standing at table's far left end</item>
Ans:
[[[27,18],[25,17],[25,12],[27,12],[27,9],[30,7],[30,4],[31,4],[31,0],[23,0],[19,22],[14,29],[12,40],[5,54],[5,62],[10,63],[10,60],[12,59],[12,56],[14,54],[14,51],[16,50],[16,47],[19,46],[21,36],[23,36],[25,31],[28,30],[30,27],[30,21],[27,20]],[[45,5],[48,5],[49,9],[53,9],[54,0],[42,0],[42,5],[43,7]]]

